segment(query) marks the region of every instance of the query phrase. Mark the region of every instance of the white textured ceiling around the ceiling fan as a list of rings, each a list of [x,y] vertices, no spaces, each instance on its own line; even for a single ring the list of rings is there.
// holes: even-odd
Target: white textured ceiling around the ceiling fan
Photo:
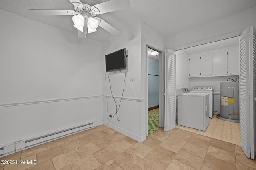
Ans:
[[[80,0],[95,5],[106,0]],[[130,0],[130,8],[99,15],[122,31],[138,20],[165,37],[202,26],[256,6],[256,0]],[[0,0],[0,9],[77,34],[72,16],[36,16],[29,9],[73,10],[69,0]],[[102,28],[87,37],[104,41],[112,36]]]

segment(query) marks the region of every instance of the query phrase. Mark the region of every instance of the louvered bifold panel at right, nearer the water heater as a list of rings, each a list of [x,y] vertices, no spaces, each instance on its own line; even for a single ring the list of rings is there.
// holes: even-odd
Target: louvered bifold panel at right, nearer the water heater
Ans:
[[[239,37],[240,53],[240,90],[239,90],[239,113],[240,113],[240,134],[241,148],[244,154],[250,158],[250,105],[249,105],[249,33],[246,28]]]

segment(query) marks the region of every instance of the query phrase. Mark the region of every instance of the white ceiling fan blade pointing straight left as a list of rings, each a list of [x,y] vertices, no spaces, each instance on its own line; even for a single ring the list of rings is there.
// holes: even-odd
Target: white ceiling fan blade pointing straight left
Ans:
[[[76,15],[73,10],[29,10],[32,14],[36,15]]]

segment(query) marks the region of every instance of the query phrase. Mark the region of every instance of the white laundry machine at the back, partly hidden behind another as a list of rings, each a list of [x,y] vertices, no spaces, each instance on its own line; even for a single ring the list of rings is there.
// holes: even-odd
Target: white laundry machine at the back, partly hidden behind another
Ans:
[[[193,86],[192,93],[208,93],[209,94],[209,117],[212,118],[213,109],[213,87],[212,86]]]

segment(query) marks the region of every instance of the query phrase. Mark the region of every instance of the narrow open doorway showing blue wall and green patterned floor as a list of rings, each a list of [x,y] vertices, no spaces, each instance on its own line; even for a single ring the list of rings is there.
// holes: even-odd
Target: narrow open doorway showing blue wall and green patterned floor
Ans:
[[[159,56],[160,51],[147,46],[147,70],[148,70],[148,135],[156,132],[160,128],[159,99],[160,99],[160,71]]]

